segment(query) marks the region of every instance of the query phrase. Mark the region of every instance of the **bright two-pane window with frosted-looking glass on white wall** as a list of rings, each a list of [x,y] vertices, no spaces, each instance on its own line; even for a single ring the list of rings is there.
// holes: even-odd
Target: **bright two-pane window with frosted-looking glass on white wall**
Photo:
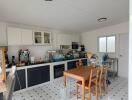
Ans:
[[[99,37],[99,52],[114,53],[115,52],[115,36]]]

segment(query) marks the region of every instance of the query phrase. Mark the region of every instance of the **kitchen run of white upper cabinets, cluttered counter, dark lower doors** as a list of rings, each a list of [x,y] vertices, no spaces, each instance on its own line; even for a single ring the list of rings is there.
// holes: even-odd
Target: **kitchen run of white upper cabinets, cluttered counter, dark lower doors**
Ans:
[[[55,32],[52,34],[42,30],[33,31],[34,29],[31,28],[18,28],[19,25],[15,27],[3,22],[0,25],[2,31],[6,32],[7,29],[7,34],[1,33],[8,36],[5,39],[8,41],[8,46],[7,41],[3,43],[4,45],[1,44],[2,48],[6,49],[7,75],[12,65],[17,66],[18,80],[16,80],[14,91],[28,89],[31,86],[61,77],[63,71],[74,68],[79,59],[83,61],[84,65],[87,65],[85,48],[79,44],[79,34],[56,33],[56,39]],[[49,34],[46,43],[44,42],[45,37],[43,37],[45,32]],[[13,33],[15,34],[12,35]]]

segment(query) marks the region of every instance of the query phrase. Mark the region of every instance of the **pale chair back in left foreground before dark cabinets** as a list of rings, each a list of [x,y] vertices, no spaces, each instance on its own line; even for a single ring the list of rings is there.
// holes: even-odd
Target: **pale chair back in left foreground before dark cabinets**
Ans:
[[[5,100],[12,100],[14,86],[15,86],[15,73],[16,73],[16,67],[12,66],[6,80],[7,91],[5,95]]]

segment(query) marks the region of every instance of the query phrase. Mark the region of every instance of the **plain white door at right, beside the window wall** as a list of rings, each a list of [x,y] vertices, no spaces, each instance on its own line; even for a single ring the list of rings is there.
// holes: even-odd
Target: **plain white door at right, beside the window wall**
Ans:
[[[128,78],[128,34],[119,35],[119,76]]]

